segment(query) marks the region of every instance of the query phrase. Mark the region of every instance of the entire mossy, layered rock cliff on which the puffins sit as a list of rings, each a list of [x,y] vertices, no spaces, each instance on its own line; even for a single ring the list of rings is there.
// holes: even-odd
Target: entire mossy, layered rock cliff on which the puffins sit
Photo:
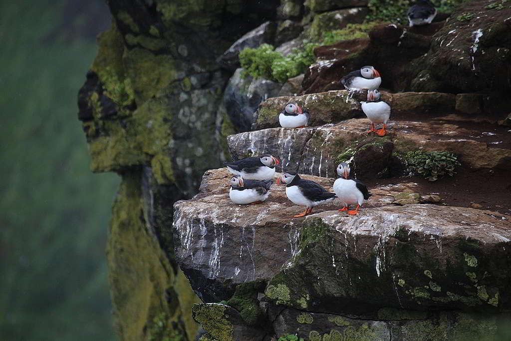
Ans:
[[[123,340],[505,337],[511,10],[472,1],[426,28],[380,22],[408,3],[109,2],[79,119],[92,170],[123,177],[107,250]],[[262,44],[247,75],[240,55]],[[339,83],[365,64],[389,90],[383,138],[366,134],[366,93]],[[309,127],[278,127],[289,101]],[[373,196],[355,217],[334,201],[291,218],[276,184],[232,204],[221,161],[267,152],[327,188],[349,160]],[[441,177],[445,155],[453,177],[419,176]]]

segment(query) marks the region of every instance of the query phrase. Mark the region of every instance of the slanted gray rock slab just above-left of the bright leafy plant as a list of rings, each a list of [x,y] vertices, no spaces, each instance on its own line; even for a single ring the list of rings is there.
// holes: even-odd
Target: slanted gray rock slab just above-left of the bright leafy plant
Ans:
[[[240,67],[240,61],[238,59],[240,51],[245,48],[257,48],[263,43],[272,43],[275,36],[275,29],[275,23],[267,21],[258,28],[246,33],[219,58],[222,67],[231,70]]]

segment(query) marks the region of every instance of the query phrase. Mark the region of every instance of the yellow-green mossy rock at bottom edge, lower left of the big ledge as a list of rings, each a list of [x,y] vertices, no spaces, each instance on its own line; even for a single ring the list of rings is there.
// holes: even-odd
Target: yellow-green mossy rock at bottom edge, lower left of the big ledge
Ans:
[[[215,340],[234,341],[233,324],[227,320],[226,310],[227,306],[222,304],[195,304],[193,316]]]

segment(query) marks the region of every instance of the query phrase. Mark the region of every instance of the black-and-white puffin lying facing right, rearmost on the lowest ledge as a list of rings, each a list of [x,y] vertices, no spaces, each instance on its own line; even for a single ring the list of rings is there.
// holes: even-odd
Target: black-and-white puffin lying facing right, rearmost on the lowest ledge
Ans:
[[[250,156],[238,161],[225,162],[229,172],[241,175],[243,179],[269,180],[275,174],[275,165],[280,164],[278,158],[270,154]]]

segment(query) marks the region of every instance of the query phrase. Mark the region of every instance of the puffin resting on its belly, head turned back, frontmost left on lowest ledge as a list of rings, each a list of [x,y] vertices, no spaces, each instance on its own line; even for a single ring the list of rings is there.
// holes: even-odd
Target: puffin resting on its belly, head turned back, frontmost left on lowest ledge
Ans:
[[[244,180],[241,175],[233,175],[229,182],[229,198],[240,205],[268,199],[273,184],[273,180]]]

